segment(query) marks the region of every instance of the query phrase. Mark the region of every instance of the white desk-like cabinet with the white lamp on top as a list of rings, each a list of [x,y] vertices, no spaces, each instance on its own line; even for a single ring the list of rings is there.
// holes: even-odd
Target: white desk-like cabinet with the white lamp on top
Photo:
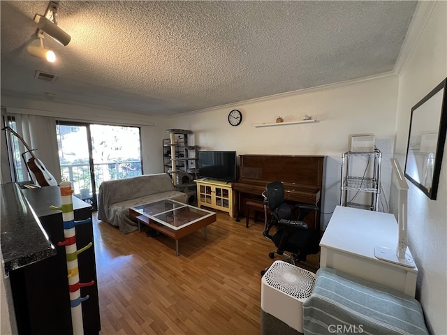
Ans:
[[[330,267],[414,297],[417,267],[405,267],[375,257],[374,248],[395,251],[399,239],[393,214],[335,207],[320,241],[320,267]],[[409,248],[406,254],[411,257]]]

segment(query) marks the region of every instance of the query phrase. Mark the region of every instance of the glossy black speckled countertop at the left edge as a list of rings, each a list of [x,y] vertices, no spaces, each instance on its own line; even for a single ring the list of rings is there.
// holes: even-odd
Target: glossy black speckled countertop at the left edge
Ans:
[[[1,185],[0,229],[6,276],[10,271],[57,253],[17,184]]]

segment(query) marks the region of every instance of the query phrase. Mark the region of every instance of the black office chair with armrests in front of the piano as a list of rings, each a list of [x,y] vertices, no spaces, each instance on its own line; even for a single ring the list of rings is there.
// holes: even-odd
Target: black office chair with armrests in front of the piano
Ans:
[[[293,265],[298,262],[305,262],[307,255],[312,255],[320,251],[320,232],[318,229],[309,228],[303,222],[304,218],[312,211],[319,211],[317,206],[312,204],[296,204],[298,211],[296,220],[292,220],[291,207],[284,202],[284,185],[281,181],[273,181],[265,186],[263,192],[265,209],[264,236],[277,246],[277,250],[271,251],[268,255],[284,256]],[[268,221],[267,207],[272,212]],[[288,253],[286,253],[288,252]],[[305,263],[309,267],[313,265]],[[261,271],[264,274],[268,268]]]

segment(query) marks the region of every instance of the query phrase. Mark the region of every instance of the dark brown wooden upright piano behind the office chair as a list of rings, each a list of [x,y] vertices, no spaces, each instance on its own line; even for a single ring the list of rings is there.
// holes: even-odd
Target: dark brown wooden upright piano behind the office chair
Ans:
[[[233,183],[237,216],[245,212],[249,199],[262,200],[265,185],[284,184],[286,202],[316,204],[321,209],[324,191],[325,156],[240,155],[240,178]],[[309,215],[308,224],[320,226],[320,214]]]

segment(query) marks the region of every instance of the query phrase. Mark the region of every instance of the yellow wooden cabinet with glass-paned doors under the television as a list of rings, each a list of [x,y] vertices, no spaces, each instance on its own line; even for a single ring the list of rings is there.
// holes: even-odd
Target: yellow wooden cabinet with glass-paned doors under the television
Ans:
[[[233,218],[233,187],[228,181],[198,179],[197,205],[226,211]]]

